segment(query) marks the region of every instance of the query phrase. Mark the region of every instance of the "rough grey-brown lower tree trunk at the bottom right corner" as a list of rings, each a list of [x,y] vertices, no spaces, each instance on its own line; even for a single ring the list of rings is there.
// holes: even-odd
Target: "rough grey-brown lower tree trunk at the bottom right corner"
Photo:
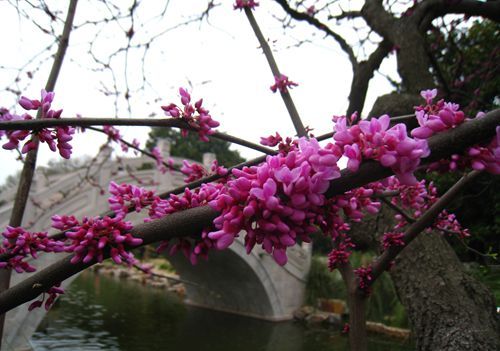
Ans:
[[[390,274],[408,311],[416,350],[500,350],[493,296],[464,271],[439,234],[420,234]]]

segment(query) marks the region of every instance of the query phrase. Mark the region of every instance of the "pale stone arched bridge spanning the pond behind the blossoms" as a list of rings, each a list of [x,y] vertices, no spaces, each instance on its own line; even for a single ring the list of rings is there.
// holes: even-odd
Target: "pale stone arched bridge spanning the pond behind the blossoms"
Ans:
[[[163,144],[164,155],[168,158],[168,145]],[[106,152],[104,152],[106,154]],[[166,159],[167,159],[166,158]],[[213,160],[212,154],[204,155],[204,163]],[[179,165],[182,160],[174,158]],[[53,214],[73,214],[77,217],[98,215],[108,210],[108,183],[136,184],[133,174],[141,179],[147,188],[155,188],[158,193],[178,187],[183,176],[178,172],[161,174],[156,171],[154,161],[144,157],[123,159],[121,162],[101,157],[88,169],[55,173],[44,176],[37,172],[27,206],[24,226],[31,230],[47,230]],[[90,182],[89,182],[90,180]],[[94,183],[91,185],[90,183]],[[0,228],[8,224],[15,189],[0,194]],[[133,222],[139,223],[139,216]],[[3,230],[3,229],[2,229]],[[182,254],[169,257],[181,278],[195,282],[186,284],[186,302],[211,309],[280,321],[291,318],[304,298],[306,277],[310,266],[310,246],[296,246],[288,250],[288,263],[281,267],[260,248],[246,254],[242,238],[236,240],[229,249],[214,251],[208,261],[201,260],[192,266]],[[61,258],[61,254],[41,254],[33,261],[43,268]],[[11,285],[27,276],[13,273]],[[71,279],[64,284],[69,284]],[[28,312],[26,303],[7,313],[1,350],[29,349],[29,338],[44,317],[43,308]]]

